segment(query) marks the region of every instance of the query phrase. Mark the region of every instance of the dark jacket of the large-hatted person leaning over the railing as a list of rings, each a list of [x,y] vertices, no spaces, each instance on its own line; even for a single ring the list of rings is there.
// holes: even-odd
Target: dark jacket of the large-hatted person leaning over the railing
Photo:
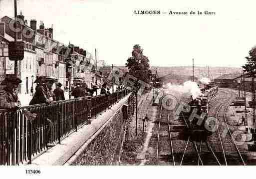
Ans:
[[[45,84],[41,84],[35,91],[33,98],[31,99],[29,105],[33,104],[43,104],[46,103],[46,100],[50,97],[53,98],[50,90]],[[54,100],[54,99],[53,99]]]

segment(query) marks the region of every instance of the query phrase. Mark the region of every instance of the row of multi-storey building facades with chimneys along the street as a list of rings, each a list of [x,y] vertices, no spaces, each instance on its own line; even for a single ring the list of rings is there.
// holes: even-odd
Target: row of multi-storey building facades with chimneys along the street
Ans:
[[[69,89],[73,86],[74,78],[80,78],[91,88],[92,65],[90,59],[86,58],[86,51],[79,46],[65,46],[63,43],[54,40],[53,28],[45,28],[40,21],[37,28],[37,21],[30,20],[30,26],[22,14],[18,15],[17,41],[23,41],[24,58],[18,61],[18,76],[22,83],[19,92],[30,93],[31,87],[35,91],[33,82],[39,76],[53,76],[62,84],[62,89]],[[15,32],[11,30],[13,19],[4,16],[0,19],[0,47],[7,47],[9,41],[14,41]],[[0,48],[0,81],[5,76],[14,75],[14,61],[8,59],[8,48]],[[68,53],[66,53],[68,52]],[[53,85],[53,89],[55,85]]]

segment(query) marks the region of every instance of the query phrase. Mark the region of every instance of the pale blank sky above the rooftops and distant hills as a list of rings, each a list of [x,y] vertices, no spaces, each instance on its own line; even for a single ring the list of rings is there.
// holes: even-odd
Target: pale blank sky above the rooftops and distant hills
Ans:
[[[17,0],[25,19],[53,24],[53,38],[124,65],[140,44],[152,66],[240,67],[256,45],[254,0]],[[216,15],[141,15],[134,10],[214,11]],[[14,16],[0,0],[0,16]]]

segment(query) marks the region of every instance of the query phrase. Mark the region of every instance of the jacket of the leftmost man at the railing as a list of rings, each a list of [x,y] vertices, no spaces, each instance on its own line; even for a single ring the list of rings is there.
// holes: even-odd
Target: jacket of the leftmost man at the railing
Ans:
[[[15,103],[20,105],[20,101],[16,92],[8,91],[7,88],[4,87],[0,91],[0,108],[15,109]]]

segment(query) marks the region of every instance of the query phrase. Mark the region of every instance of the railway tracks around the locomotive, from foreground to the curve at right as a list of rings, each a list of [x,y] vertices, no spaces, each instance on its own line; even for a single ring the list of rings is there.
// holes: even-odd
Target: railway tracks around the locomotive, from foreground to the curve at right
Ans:
[[[209,102],[212,110],[217,106],[215,116],[219,124],[225,124],[228,130],[226,139],[221,135],[224,130],[222,125],[206,141],[195,142],[190,136],[186,138],[188,124],[185,118],[175,118],[169,114],[169,110],[161,106],[156,165],[246,165],[226,119],[226,112],[233,101],[234,93],[224,90],[221,92],[226,96],[224,99],[222,94],[217,94],[212,96]]]

